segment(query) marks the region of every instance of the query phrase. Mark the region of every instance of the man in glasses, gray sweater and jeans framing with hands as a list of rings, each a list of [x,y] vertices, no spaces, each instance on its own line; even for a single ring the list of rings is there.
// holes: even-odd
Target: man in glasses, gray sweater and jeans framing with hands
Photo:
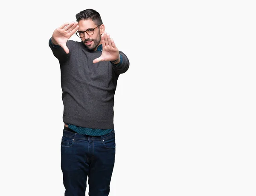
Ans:
[[[75,33],[81,42],[69,40]],[[56,28],[49,47],[61,68],[65,196],[84,196],[87,176],[90,196],[108,196],[115,160],[114,94],[129,60],[93,9]]]

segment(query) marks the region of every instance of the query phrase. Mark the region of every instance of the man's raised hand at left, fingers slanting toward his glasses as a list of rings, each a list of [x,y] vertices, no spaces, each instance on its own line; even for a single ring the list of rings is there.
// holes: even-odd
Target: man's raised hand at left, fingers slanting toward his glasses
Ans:
[[[52,34],[52,43],[60,45],[64,51],[68,54],[67,40],[76,33],[79,28],[78,22],[64,23],[60,27],[56,28]]]

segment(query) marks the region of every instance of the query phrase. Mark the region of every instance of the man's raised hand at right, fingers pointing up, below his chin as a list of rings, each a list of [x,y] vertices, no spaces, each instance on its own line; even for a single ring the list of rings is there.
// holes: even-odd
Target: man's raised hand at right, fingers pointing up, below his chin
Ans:
[[[119,58],[119,50],[110,35],[106,32],[101,37],[102,39],[102,55],[93,60],[93,63],[99,61],[113,61]]]

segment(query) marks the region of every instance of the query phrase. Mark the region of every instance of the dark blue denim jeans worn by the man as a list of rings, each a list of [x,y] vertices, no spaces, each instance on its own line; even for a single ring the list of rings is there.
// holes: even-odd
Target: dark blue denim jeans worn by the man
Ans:
[[[89,196],[108,196],[116,154],[115,132],[87,136],[64,127],[61,170],[65,196],[84,196],[88,176]]]

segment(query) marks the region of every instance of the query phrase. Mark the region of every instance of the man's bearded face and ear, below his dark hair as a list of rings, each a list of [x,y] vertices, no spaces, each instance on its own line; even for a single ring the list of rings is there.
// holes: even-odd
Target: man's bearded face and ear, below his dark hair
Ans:
[[[80,20],[78,25],[78,31],[86,31],[88,28],[95,28],[97,26],[92,20]],[[88,50],[97,50],[97,47],[101,44],[101,34],[103,34],[104,30],[104,25],[100,25],[94,29],[94,33],[92,35],[88,35],[84,32],[84,37],[82,37],[81,40]]]

